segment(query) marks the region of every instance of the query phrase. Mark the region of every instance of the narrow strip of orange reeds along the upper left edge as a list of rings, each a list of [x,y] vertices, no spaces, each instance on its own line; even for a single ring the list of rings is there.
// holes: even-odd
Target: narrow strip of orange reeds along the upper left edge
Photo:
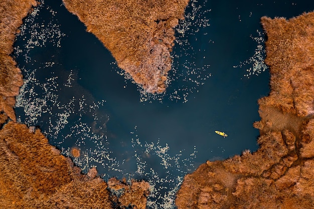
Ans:
[[[28,14],[35,0],[1,1],[0,2],[0,112],[5,113],[12,120],[16,120],[13,107],[15,96],[19,94],[23,84],[22,74],[16,67],[16,62],[10,57],[17,29],[22,19]],[[5,116],[0,121],[6,120]]]

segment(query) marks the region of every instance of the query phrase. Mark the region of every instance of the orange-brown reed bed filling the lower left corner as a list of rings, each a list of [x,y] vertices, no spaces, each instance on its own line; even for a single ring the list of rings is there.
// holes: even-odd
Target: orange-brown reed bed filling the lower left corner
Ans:
[[[40,132],[9,122],[0,130],[0,208],[123,208],[144,209],[149,184],[128,185],[112,178],[111,195],[96,168],[84,175],[70,158],[48,143]],[[115,182],[114,184],[112,182]],[[115,206],[113,206],[115,205]]]

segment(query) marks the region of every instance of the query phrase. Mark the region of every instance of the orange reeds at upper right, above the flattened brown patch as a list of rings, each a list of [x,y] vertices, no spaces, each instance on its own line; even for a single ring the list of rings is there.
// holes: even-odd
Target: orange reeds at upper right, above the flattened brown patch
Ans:
[[[314,113],[314,13],[297,18],[263,17],[270,66],[270,95],[261,103],[298,116]]]

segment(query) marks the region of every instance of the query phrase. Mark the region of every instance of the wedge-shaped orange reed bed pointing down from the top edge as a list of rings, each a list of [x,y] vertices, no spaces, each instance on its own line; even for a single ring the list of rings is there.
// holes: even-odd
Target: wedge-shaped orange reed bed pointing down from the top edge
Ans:
[[[63,0],[147,92],[163,92],[171,69],[174,27],[189,0]]]

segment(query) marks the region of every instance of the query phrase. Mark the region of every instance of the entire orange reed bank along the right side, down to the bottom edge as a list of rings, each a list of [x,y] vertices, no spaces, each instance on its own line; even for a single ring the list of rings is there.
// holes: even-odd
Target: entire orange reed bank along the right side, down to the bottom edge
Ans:
[[[183,208],[314,208],[314,13],[261,19],[270,66],[260,148],[202,164],[177,194]]]

